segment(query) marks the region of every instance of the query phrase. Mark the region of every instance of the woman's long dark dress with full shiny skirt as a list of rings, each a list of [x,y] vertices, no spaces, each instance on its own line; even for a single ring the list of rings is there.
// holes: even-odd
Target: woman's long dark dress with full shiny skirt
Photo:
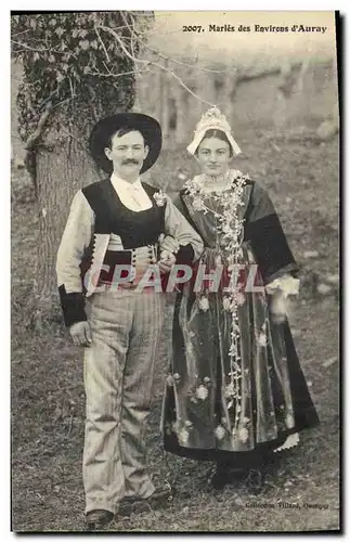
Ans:
[[[232,196],[233,192],[226,194]],[[209,195],[205,203],[220,212],[218,198]],[[177,205],[205,242],[200,263],[210,271],[221,260],[228,269],[215,215],[196,210],[186,190]],[[255,286],[260,291],[239,294],[233,332],[223,286],[209,292],[204,284],[194,292],[193,282],[184,285],[174,306],[161,416],[166,451],[229,460],[237,467],[260,463],[289,435],[319,423],[288,322],[272,321],[269,296],[261,287],[297,273],[298,267],[267,192],[248,178],[239,212],[244,218],[239,263],[247,273],[251,264],[257,266]],[[234,359],[229,353],[232,333],[238,351]]]

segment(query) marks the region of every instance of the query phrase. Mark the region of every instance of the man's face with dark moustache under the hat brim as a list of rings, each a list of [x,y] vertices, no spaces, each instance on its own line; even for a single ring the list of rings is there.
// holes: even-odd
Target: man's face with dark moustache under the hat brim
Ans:
[[[143,136],[131,131],[125,136],[115,133],[111,139],[111,149],[104,150],[107,158],[113,162],[114,172],[126,180],[135,180],[148,154]]]

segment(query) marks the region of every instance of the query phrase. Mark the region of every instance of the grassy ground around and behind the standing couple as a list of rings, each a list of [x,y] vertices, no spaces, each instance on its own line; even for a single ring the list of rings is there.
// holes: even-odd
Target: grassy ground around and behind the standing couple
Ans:
[[[206,481],[210,463],[161,451],[158,426],[169,315],[147,438],[154,478],[167,480],[176,493],[167,507],[121,519],[112,527],[115,531],[339,528],[339,294],[337,286],[326,294],[317,289],[328,275],[338,273],[337,141],[320,144],[303,139],[301,132],[285,138],[256,129],[247,130],[239,145],[245,155],[235,167],[269,189],[302,267],[291,326],[321,425],[301,435],[300,446],[281,457],[260,491],[251,487],[251,476],[222,492],[210,491]],[[152,181],[176,192],[194,170],[194,162],[184,152],[169,151],[152,170]],[[72,346],[62,323],[52,323],[40,333],[31,328],[37,219],[23,170],[14,171],[12,188],[12,527],[15,531],[79,531],[85,505],[81,351]],[[308,250],[316,253],[310,256]],[[300,508],[291,507],[293,503]]]

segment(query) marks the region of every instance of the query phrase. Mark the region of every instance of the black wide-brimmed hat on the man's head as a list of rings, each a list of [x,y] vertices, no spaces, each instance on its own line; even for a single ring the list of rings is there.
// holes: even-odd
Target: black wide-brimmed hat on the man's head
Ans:
[[[131,128],[142,133],[148,154],[143,163],[140,173],[147,171],[159,156],[161,149],[161,128],[159,122],[142,113],[118,113],[103,118],[93,127],[89,146],[90,153],[99,167],[106,173],[113,172],[113,163],[105,155],[108,140],[120,128]]]

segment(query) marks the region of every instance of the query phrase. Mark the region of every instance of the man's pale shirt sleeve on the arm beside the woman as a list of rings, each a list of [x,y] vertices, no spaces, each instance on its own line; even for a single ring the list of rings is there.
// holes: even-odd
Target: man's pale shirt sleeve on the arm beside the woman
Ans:
[[[191,260],[196,261],[200,257],[204,250],[202,237],[187,222],[169,196],[167,196],[165,210],[165,233],[172,235],[179,242],[179,253],[182,251],[184,255],[185,250],[189,251],[186,247],[190,246],[190,249],[193,251]]]

